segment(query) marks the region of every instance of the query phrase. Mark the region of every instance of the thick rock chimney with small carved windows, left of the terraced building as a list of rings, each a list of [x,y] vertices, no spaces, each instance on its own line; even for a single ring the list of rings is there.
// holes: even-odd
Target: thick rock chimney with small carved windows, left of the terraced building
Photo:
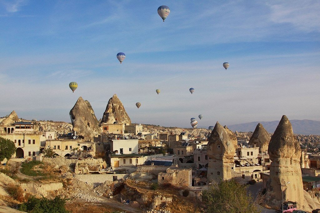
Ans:
[[[207,155],[209,156],[208,179],[231,179],[231,167],[236,149],[228,132],[218,122],[209,137]]]

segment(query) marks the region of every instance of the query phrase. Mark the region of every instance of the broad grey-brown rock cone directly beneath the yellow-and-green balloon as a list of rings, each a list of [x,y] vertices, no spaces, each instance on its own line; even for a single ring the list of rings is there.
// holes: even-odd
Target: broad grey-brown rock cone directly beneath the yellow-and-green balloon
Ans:
[[[77,135],[82,135],[84,141],[92,141],[93,137],[98,137],[101,133],[99,122],[90,103],[84,101],[82,97],[78,98],[69,114],[73,125],[72,130],[76,131]]]

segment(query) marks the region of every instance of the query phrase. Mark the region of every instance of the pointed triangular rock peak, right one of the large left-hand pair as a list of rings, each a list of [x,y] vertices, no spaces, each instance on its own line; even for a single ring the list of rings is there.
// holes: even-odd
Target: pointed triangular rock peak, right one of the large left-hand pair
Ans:
[[[116,120],[125,123],[126,125],[131,125],[131,120],[125,111],[122,102],[119,100],[118,96],[114,94],[108,101],[101,123],[113,124]]]

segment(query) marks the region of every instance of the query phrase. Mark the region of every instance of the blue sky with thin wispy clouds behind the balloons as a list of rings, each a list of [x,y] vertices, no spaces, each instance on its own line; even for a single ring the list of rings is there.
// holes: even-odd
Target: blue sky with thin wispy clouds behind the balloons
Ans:
[[[134,123],[320,120],[319,11],[318,0],[0,0],[0,117],[70,122],[82,96],[99,120],[117,94]]]

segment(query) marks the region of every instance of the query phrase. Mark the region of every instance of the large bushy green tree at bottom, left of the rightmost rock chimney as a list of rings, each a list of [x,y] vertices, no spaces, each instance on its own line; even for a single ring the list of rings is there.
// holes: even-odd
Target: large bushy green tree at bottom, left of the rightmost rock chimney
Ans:
[[[246,186],[235,180],[214,182],[202,192],[205,212],[260,213],[259,205],[251,194],[247,195]]]

